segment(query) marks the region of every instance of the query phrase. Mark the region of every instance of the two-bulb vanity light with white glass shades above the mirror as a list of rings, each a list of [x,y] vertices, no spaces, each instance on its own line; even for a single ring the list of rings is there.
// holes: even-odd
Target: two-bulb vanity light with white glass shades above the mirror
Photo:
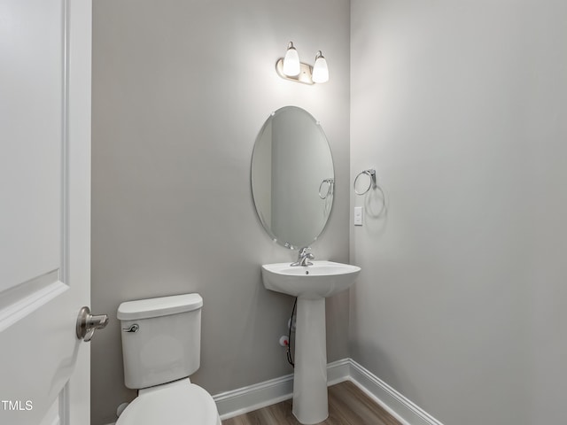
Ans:
[[[322,56],[321,50],[315,55],[315,65],[310,66],[299,61],[298,50],[293,42],[289,42],[283,58],[277,59],[277,74],[285,80],[315,84],[329,81],[329,68],[327,60]]]

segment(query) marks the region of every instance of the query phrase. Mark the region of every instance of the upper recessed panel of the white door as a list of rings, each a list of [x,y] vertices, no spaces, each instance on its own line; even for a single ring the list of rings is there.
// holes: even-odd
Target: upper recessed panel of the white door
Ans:
[[[0,4],[0,188],[10,202],[0,231],[20,254],[0,267],[6,290],[60,267],[66,27],[61,0]]]

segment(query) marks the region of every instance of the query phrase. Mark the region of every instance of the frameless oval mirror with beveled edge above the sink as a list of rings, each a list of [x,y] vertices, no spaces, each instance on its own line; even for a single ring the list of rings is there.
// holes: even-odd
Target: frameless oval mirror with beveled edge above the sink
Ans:
[[[273,112],[252,152],[252,197],[268,235],[286,248],[313,243],[327,224],[335,174],[327,137],[296,106]]]

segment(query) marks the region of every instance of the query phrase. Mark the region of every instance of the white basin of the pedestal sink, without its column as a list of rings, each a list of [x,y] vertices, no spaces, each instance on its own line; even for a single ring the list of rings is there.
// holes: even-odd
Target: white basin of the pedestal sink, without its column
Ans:
[[[262,280],[268,290],[317,299],[347,290],[360,272],[361,267],[332,261],[314,261],[313,266],[307,267],[276,263],[262,266]]]

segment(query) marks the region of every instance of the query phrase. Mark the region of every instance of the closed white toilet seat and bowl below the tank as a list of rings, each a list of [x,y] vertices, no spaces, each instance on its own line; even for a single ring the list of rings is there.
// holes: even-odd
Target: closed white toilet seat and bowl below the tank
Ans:
[[[211,395],[189,379],[140,390],[116,425],[220,425]]]

